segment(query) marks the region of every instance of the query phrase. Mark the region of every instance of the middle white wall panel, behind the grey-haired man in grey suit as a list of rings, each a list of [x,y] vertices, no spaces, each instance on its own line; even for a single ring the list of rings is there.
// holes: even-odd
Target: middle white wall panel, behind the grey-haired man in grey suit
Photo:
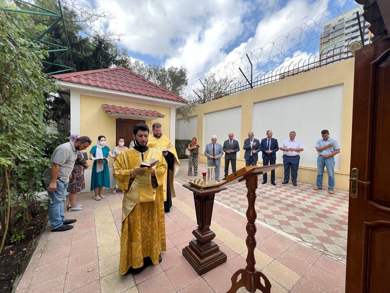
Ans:
[[[211,142],[211,136],[217,136],[217,143],[223,146],[223,142],[229,139],[229,133],[233,132],[234,139],[238,140],[240,149],[241,141],[241,106],[204,114],[203,119],[203,148],[204,152],[207,143]],[[240,157],[240,152],[237,157]]]

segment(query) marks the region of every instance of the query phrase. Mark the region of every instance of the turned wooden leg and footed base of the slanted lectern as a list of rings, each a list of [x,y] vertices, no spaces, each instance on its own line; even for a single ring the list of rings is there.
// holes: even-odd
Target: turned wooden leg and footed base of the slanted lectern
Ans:
[[[232,286],[227,293],[236,293],[239,288],[245,287],[246,291],[255,293],[259,289],[263,293],[271,293],[271,283],[267,277],[255,269],[255,248],[256,248],[256,225],[255,220],[257,213],[255,210],[256,189],[257,189],[257,176],[246,179],[246,188],[248,193],[248,209],[246,210],[246,247],[248,248],[248,255],[246,256],[246,268],[240,269],[232,276]],[[239,281],[238,277],[241,275]],[[261,283],[264,281],[264,285]]]

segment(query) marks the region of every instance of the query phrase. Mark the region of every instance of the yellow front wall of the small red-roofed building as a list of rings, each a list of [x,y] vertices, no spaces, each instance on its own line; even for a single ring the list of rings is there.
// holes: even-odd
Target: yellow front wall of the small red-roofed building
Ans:
[[[146,124],[149,128],[152,128],[154,122],[160,122],[164,134],[170,137],[170,108],[161,107],[151,104],[140,104],[128,101],[114,100],[110,98],[101,98],[97,96],[80,95],[80,135],[89,136],[92,140],[92,145],[86,150],[89,154],[90,148],[96,145],[97,137],[104,135],[106,137],[107,146],[112,150],[116,145],[116,119],[115,116],[108,116],[103,111],[101,105],[115,105],[121,107],[129,107],[142,110],[153,110],[163,115],[164,118],[158,118],[155,120],[146,120]],[[123,117],[120,117],[123,118]],[[142,119],[140,119],[142,120]],[[165,130],[165,131],[164,131]],[[128,147],[130,141],[126,142]],[[113,159],[110,157],[109,166],[112,166]]]

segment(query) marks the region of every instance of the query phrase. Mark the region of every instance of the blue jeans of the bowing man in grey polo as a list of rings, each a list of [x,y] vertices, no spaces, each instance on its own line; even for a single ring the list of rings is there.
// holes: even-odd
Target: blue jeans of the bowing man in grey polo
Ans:
[[[47,189],[49,184],[45,185]],[[68,182],[64,183],[61,180],[57,180],[57,188],[55,191],[48,191],[48,195],[52,201],[49,205],[49,221],[51,224],[51,230],[57,229],[65,222],[64,201],[66,201],[67,188]]]

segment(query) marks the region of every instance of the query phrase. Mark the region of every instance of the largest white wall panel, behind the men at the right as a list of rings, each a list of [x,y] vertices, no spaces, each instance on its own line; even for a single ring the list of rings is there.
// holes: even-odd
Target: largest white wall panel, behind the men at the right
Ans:
[[[328,129],[330,136],[341,145],[342,101],[343,85],[340,84],[255,103],[252,124],[255,138],[261,140],[266,137],[267,130],[272,130],[273,138],[280,146],[294,130],[304,148],[300,166],[316,168],[315,147],[317,139],[321,138],[321,130]],[[282,155],[282,150],[279,150],[277,163],[283,163]],[[336,170],[340,170],[340,155],[335,156]]]

